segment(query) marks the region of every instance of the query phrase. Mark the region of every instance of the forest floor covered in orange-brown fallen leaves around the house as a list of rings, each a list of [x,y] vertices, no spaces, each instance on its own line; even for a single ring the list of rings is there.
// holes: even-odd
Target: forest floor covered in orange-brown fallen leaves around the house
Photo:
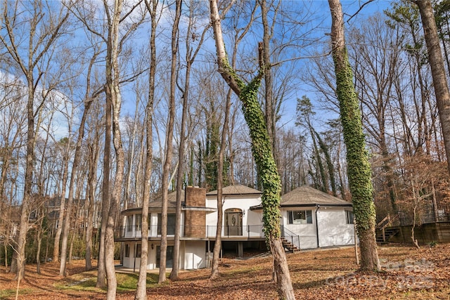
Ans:
[[[354,248],[333,248],[287,254],[297,299],[450,299],[450,244],[416,249],[409,245],[378,247],[383,270],[356,271]],[[250,255],[250,254],[248,254]],[[269,254],[221,260],[221,276],[209,280],[209,269],[188,270],[179,280],[158,285],[158,273],[148,273],[148,299],[276,299]],[[58,263],[27,266],[19,299],[105,299],[97,289],[96,270],[84,271],[84,261],[68,265],[69,276],[58,276]],[[134,299],[137,273],[117,271],[117,299]],[[17,281],[0,268],[0,299],[15,299]]]

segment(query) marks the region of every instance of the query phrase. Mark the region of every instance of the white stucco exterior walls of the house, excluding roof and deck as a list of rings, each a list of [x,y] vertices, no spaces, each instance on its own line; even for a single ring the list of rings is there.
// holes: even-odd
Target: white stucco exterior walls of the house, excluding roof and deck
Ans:
[[[201,191],[204,194],[204,191]],[[200,195],[200,193],[199,193]],[[204,196],[203,196],[204,197]],[[200,196],[195,198],[194,202],[186,202],[186,206],[190,205],[192,207],[201,207],[203,206],[203,200]],[[250,207],[255,207],[261,204],[260,195],[225,195],[223,202],[223,211],[224,211],[224,231],[222,231],[222,236],[227,236],[231,240],[236,235],[241,235],[242,237],[262,237],[262,210],[251,211]],[[309,204],[307,204],[309,205]],[[217,209],[217,197],[214,195],[206,196],[205,206]],[[236,219],[240,220],[240,216],[242,216],[242,227],[241,230],[236,234],[236,232],[229,230],[227,235],[225,235],[225,226],[226,226],[226,211],[227,209],[234,209],[233,211],[229,211],[228,218],[229,223],[231,218],[233,218],[233,223]],[[353,224],[347,224],[347,216],[346,210],[350,209],[350,207],[283,207],[281,208],[281,226],[283,230],[285,230],[285,236],[292,236],[292,239],[295,240],[293,244],[300,249],[314,249],[316,247],[332,247],[332,246],[341,246],[341,245],[350,245],[354,244],[354,226]],[[309,210],[311,211],[311,223],[307,223],[307,221],[302,222],[304,220],[301,216],[305,216],[298,214],[297,218],[293,221],[292,224],[289,223],[288,211],[302,211]],[[309,214],[307,215],[309,218]],[[139,237],[140,234],[136,230],[136,217],[135,215],[131,216],[133,219],[133,229],[130,231],[129,235],[125,233],[125,237]],[[183,226],[186,224],[186,226]],[[153,211],[150,214],[150,237],[158,237],[157,229],[158,229],[158,212]],[[182,225],[182,233],[181,236],[184,237],[203,237],[205,233],[208,236],[210,235],[210,231],[214,231],[217,226],[217,211],[183,211],[181,214],[181,225]],[[189,226],[198,227],[205,232],[201,234],[194,234],[189,231],[186,232],[186,228],[189,229]],[[204,226],[207,226],[205,228]],[[228,229],[233,226],[227,226]],[[190,229],[191,230],[191,229]],[[319,233],[319,238],[317,233]],[[129,257],[123,258],[123,265],[127,268],[136,268],[139,269],[140,259],[134,259],[134,255],[136,254],[135,244],[140,243],[140,241],[134,242],[129,241],[125,242],[129,244]],[[151,249],[151,244],[153,244],[153,249]],[[156,252],[157,247],[160,244],[159,240],[149,241],[148,242],[148,269],[156,268]],[[197,269],[197,268],[207,268],[207,252],[206,252],[206,244],[205,240],[182,240],[180,245],[180,268],[181,269]]]

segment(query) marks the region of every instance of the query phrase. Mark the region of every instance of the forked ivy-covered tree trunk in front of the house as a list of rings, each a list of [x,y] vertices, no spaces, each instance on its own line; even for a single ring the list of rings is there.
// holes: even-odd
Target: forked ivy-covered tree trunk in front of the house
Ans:
[[[264,234],[274,256],[274,268],[280,299],[295,299],[294,289],[290,280],[288,261],[280,238],[280,194],[281,180],[274,155],[272,153],[271,140],[266,129],[264,113],[257,98],[257,92],[261,84],[263,73],[259,72],[249,84],[245,84],[229,65],[225,52],[224,39],[221,33],[221,23],[217,0],[210,0],[211,22],[214,30],[214,39],[217,49],[218,72],[224,78],[231,89],[238,95],[241,103],[245,122],[250,129],[252,140],[252,154],[255,158],[257,171],[262,183],[262,209],[264,221]]]

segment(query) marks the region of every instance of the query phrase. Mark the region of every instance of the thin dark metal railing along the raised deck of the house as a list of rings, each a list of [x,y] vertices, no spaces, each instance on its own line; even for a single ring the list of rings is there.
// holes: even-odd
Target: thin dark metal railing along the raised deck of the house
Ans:
[[[262,225],[222,226],[222,237],[264,237]],[[181,237],[215,237],[217,226],[188,226],[181,225]],[[167,235],[175,234],[175,226],[167,226]],[[142,237],[141,226],[121,226],[115,230],[115,237],[136,238]],[[161,237],[161,227],[148,226],[148,237]]]

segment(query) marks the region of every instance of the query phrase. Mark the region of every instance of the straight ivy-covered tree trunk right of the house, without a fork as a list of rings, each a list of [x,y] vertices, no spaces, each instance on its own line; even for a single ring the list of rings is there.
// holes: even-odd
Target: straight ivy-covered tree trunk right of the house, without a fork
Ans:
[[[356,230],[361,249],[361,270],[380,270],[375,240],[375,204],[371,182],[371,166],[361,122],[361,111],[353,84],[344,37],[344,20],[339,0],[328,0],[331,12],[331,41],[336,73],[336,93],[340,119],[347,146],[347,174]]]

